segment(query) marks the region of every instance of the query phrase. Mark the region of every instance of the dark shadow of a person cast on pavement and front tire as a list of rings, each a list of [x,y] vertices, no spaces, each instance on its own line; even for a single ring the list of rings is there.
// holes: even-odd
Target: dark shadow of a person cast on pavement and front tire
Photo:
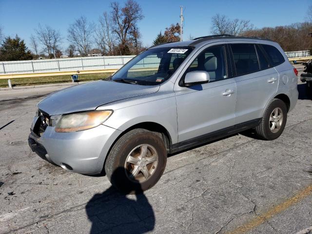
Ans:
[[[112,181],[124,176],[124,168],[119,167]],[[86,213],[92,222],[90,234],[143,234],[155,226],[153,208],[139,183],[134,190],[126,188],[123,193],[111,186],[102,194],[94,195],[86,205]]]

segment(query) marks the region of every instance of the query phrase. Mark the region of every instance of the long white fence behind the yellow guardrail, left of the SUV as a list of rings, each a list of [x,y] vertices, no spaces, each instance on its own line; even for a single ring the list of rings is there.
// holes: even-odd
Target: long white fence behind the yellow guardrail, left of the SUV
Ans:
[[[76,70],[118,69],[135,56],[80,57],[0,62],[0,75]]]

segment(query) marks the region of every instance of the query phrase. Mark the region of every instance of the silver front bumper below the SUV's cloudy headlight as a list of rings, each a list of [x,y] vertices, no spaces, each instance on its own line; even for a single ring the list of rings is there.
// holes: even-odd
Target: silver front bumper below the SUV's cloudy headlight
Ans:
[[[41,137],[31,132],[28,143],[41,158],[65,170],[99,174],[108,151],[121,131],[105,125],[72,133],[57,133],[48,126]]]

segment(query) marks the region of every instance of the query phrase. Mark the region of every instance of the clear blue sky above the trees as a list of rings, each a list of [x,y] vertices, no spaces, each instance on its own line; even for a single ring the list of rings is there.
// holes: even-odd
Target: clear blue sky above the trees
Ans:
[[[6,36],[18,34],[29,46],[29,37],[38,24],[58,29],[66,49],[67,28],[84,15],[97,22],[104,11],[110,11],[110,0],[0,0],[0,25]],[[118,1],[122,5],[124,0]],[[305,20],[312,0],[137,0],[145,18],[138,23],[143,45],[152,45],[157,33],[171,23],[179,22],[184,10],[184,39],[210,34],[211,17],[223,14],[230,19],[250,20],[254,26],[288,25]]]

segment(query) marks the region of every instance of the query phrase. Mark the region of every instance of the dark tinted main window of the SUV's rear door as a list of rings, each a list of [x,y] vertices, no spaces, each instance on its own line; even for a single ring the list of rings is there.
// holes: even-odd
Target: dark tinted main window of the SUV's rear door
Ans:
[[[232,44],[231,48],[237,76],[260,70],[253,44]]]

